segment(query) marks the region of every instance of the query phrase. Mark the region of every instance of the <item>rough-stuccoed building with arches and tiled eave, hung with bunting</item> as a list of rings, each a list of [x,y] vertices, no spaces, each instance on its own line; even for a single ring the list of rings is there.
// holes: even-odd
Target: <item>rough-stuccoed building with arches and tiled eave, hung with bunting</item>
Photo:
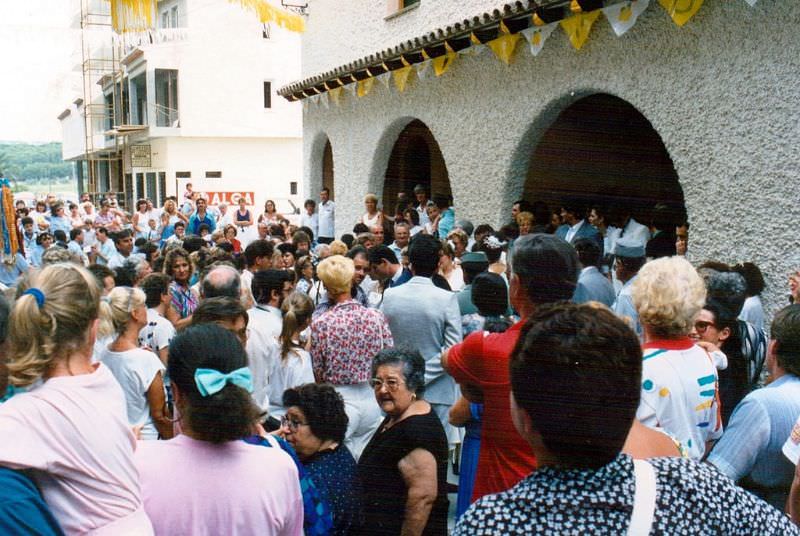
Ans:
[[[755,262],[774,310],[800,266],[800,3],[751,3],[705,2],[678,27],[651,0],[621,37],[599,16],[580,50],[556,27],[506,64],[475,43],[531,32],[537,6],[570,2],[314,0],[302,77],[280,91],[308,102],[307,191],[333,186],[339,233],[366,193],[391,210],[415,183],[495,226],[521,197],[554,209],[580,193],[643,220],[670,201],[688,213],[690,259]],[[449,50],[441,76],[414,67],[399,91],[404,65]]]

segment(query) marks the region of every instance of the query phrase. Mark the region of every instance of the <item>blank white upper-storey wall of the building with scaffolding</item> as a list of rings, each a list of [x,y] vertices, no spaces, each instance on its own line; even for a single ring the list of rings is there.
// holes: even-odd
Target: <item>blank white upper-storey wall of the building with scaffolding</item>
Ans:
[[[192,0],[180,15],[184,41],[142,47],[148,99],[155,102],[155,69],[178,70],[180,135],[300,137],[302,110],[273,94],[264,109],[263,82],[273,92],[300,76],[300,37],[278,27],[263,39],[255,13],[220,0]],[[153,135],[177,134],[161,129]]]

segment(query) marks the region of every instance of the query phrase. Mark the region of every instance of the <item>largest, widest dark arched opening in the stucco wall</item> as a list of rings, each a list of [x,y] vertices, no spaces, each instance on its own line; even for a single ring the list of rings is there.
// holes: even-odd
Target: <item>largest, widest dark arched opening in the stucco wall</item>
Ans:
[[[533,150],[523,198],[551,210],[565,199],[630,211],[648,225],[656,204],[686,221],[683,190],[658,132],[634,106],[598,93],[564,109]]]

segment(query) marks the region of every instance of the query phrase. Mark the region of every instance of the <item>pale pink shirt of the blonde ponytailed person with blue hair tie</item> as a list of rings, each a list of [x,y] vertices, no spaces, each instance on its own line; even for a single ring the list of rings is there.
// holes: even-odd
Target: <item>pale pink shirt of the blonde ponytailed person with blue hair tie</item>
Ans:
[[[141,513],[125,396],[105,365],[13,396],[0,405],[0,437],[0,464],[33,470],[67,534],[110,530],[123,518],[126,533],[152,534]]]

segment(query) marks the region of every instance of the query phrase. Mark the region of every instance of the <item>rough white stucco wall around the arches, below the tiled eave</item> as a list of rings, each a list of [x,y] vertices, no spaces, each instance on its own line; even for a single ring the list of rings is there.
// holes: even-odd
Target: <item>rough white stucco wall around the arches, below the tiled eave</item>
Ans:
[[[333,15],[331,24],[342,24]],[[457,214],[497,224],[522,191],[536,141],[558,113],[581,96],[610,93],[650,120],[674,161],[692,225],[690,259],[757,263],[774,310],[786,301],[786,275],[800,266],[792,230],[800,214],[800,38],[789,22],[796,20],[797,2],[755,8],[744,1],[707,2],[678,28],[651,2],[622,38],[598,19],[580,52],[558,30],[536,58],[523,43],[511,66],[487,50],[460,57],[438,79],[414,80],[402,95],[376,84],[361,99],[347,95],[327,110],[309,106],[306,191],[319,188],[328,136],[337,230],[351,228],[362,196],[380,194],[400,130],[418,118],[439,142]],[[331,41],[330,57],[355,59],[368,39],[356,41]],[[394,41],[376,42],[373,51]],[[304,51],[304,58],[316,53]]]

